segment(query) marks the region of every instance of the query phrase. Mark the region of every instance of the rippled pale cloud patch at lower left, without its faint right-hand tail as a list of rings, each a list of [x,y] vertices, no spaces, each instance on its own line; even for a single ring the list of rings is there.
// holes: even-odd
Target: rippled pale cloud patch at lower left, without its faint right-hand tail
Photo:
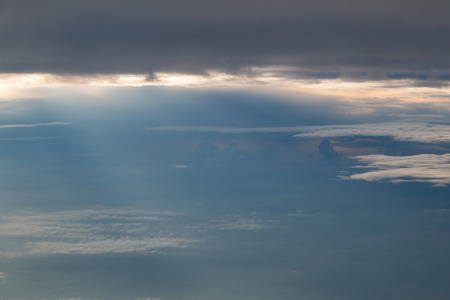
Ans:
[[[1,256],[154,252],[185,248],[195,239],[177,237],[171,221],[180,214],[164,211],[78,210],[7,216],[0,236],[21,237],[20,249]]]

